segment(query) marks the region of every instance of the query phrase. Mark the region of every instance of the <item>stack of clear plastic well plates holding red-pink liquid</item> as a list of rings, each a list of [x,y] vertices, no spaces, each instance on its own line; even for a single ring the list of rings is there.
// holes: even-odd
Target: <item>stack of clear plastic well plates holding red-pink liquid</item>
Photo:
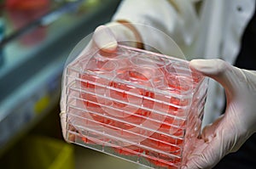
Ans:
[[[188,61],[119,45],[65,71],[69,142],[152,168],[179,168],[194,149],[207,79]]]

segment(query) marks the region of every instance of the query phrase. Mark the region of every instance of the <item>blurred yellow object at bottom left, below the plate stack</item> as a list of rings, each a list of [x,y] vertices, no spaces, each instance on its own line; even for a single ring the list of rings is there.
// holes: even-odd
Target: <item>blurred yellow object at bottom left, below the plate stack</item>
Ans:
[[[27,169],[73,169],[73,147],[54,138],[32,137],[26,140]]]

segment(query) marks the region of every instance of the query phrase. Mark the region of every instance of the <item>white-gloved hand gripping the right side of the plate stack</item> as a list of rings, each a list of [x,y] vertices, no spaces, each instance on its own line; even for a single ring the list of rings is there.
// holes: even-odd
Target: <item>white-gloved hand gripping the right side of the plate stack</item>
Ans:
[[[183,169],[211,168],[224,155],[236,152],[256,132],[256,71],[242,70],[220,59],[195,59],[189,64],[225,89],[227,106],[224,115],[205,127],[188,155]]]

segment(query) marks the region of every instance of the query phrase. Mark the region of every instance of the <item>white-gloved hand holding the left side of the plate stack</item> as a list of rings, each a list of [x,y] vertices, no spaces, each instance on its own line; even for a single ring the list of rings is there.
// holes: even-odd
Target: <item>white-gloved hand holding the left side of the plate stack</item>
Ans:
[[[130,23],[125,21],[111,22],[96,28],[91,41],[86,48],[84,48],[82,53],[84,54],[87,50],[90,50],[90,48],[94,48],[95,46],[103,52],[112,53],[117,48],[118,42],[125,42],[125,45],[140,48],[142,40],[141,37],[139,37],[137,30],[130,25]],[[67,115],[63,97],[61,97],[60,104],[62,135],[66,138]],[[71,127],[71,130],[75,130],[75,128]],[[72,135],[69,137],[74,138]],[[73,138],[69,138],[69,140],[73,140]]]

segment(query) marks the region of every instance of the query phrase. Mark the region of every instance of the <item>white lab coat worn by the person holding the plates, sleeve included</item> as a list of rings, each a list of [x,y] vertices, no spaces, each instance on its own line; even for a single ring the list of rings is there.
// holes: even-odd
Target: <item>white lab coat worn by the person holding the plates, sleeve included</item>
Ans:
[[[187,59],[224,59],[234,64],[241,37],[253,16],[254,0],[205,0],[200,8],[192,0],[124,0],[113,20],[151,25],[177,42]],[[143,42],[158,41],[160,51],[169,54],[163,39],[137,27]],[[159,37],[160,38],[160,37]],[[224,106],[224,91],[209,82],[203,126],[218,117]]]

